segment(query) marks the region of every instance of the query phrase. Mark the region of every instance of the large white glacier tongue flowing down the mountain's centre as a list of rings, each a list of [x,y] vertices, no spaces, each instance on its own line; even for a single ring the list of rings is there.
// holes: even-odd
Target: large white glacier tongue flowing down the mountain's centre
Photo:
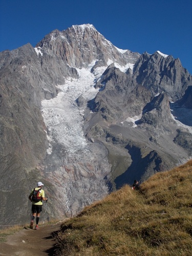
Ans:
[[[79,109],[75,100],[82,95],[92,99],[98,93],[94,88],[95,76],[88,69],[77,69],[78,79],[66,79],[66,83],[57,85],[61,90],[58,95],[50,100],[43,100],[42,116],[47,126],[49,140],[48,154],[51,154],[54,140],[58,140],[69,156],[78,155],[83,150],[87,152],[87,141],[84,137],[83,109]]]

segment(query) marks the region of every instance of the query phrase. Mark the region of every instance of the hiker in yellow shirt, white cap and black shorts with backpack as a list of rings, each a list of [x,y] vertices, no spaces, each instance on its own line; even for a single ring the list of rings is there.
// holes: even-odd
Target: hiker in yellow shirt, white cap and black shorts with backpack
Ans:
[[[42,182],[37,182],[37,187],[33,188],[31,190],[31,193],[29,195],[29,200],[32,202],[32,219],[30,223],[30,228],[33,229],[33,222],[36,217],[36,226],[35,229],[39,229],[38,222],[40,217],[40,212],[42,211],[42,201],[48,200],[48,198],[45,197],[45,191],[42,188],[44,184]]]

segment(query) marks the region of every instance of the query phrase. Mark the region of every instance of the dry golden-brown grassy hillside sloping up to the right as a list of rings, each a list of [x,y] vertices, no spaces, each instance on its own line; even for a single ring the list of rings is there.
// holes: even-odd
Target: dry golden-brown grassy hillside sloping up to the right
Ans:
[[[62,223],[57,255],[191,255],[192,160]]]

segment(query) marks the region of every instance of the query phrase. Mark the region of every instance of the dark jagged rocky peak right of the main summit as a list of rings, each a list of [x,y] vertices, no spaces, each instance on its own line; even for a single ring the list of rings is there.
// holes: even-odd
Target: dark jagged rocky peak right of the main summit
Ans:
[[[191,84],[191,75],[180,60],[163,56],[159,51],[152,55],[145,52],[139,57],[134,66],[134,77],[153,95],[166,92],[173,101],[180,99]]]

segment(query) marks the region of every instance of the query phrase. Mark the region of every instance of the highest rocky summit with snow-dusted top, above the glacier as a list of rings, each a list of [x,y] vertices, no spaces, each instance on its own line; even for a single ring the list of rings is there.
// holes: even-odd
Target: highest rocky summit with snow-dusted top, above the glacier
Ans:
[[[109,61],[126,66],[127,63],[134,64],[138,58],[138,53],[115,47],[91,24],[73,25],[63,31],[54,30],[37,47],[46,49],[50,55],[60,55],[73,68],[88,67],[96,60],[100,60],[97,68],[107,67]]]

